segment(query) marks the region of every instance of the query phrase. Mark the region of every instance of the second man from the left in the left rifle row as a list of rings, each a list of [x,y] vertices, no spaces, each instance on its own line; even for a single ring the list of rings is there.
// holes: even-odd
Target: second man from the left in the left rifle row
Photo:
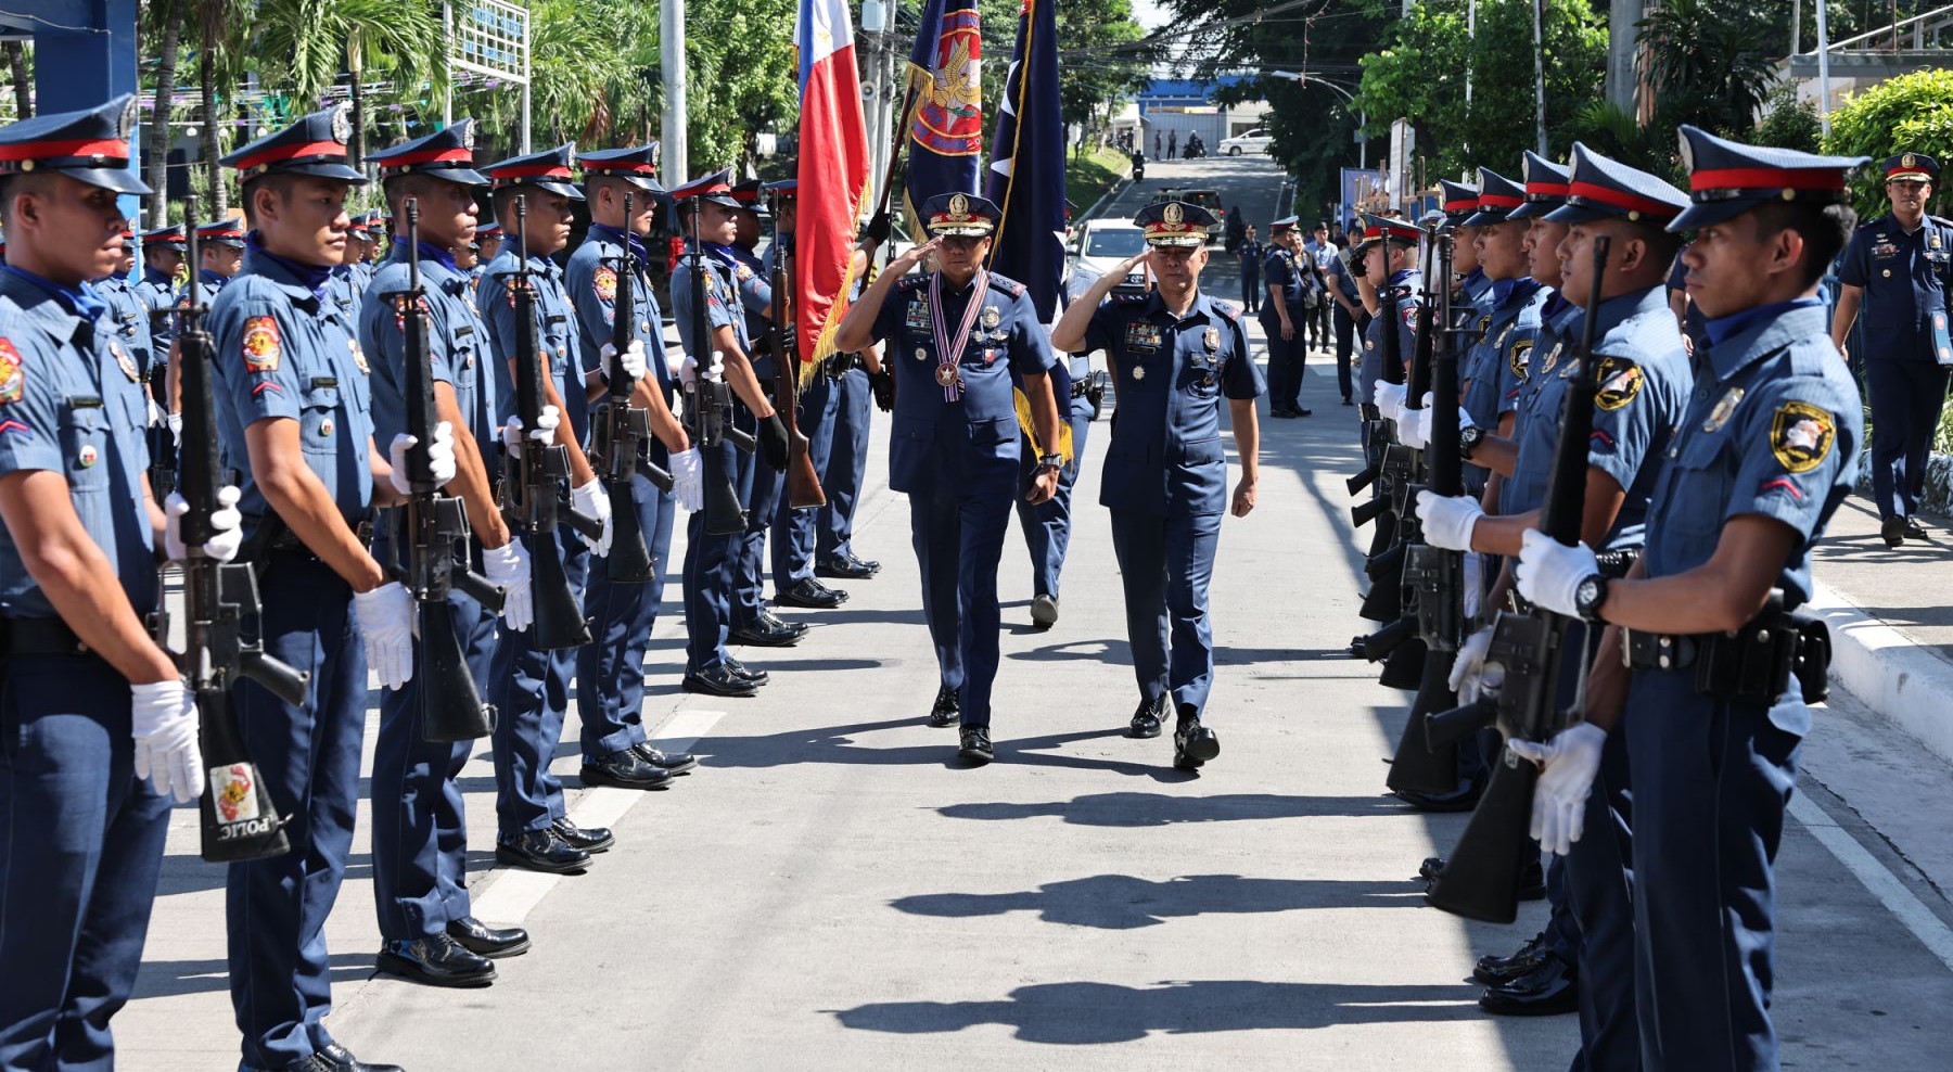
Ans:
[[[367,666],[389,689],[412,676],[412,601],[359,535],[375,500],[396,500],[410,441],[393,439],[389,457],[375,449],[365,353],[328,293],[346,191],[365,182],[348,162],[350,133],[338,105],[223,158],[252,234],[209,316],[219,439],[244,474],[264,650],[311,672],[303,705],[248,680],[232,693],[260,777],[291,816],[291,851],[232,863],[227,888],[230,1006],[250,1070],[391,1068],[353,1060],[324,1025],[324,924],[352,853]],[[436,430],[432,453],[451,473],[445,435]]]

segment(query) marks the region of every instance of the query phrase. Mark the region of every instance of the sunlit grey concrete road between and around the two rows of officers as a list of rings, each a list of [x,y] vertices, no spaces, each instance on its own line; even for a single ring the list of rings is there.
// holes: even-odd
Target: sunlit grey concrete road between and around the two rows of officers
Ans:
[[[1254,158],[1148,172],[1148,186],[1211,180],[1254,219],[1279,182]],[[848,584],[842,609],[787,611],[814,623],[799,648],[742,652],[773,674],[758,699],[680,693],[682,623],[660,619],[646,724],[705,765],[666,793],[574,791],[572,816],[619,840],[588,875],[494,871],[486,748],[469,765],[477,912],[535,935],[492,988],[373,974],[361,806],[328,924],[328,1025],[363,1058],[418,1072],[1566,1068],[1572,1017],[1486,1017],[1465,982],[1475,957],[1531,935],[1541,906],[1512,928],[1467,924],[1426,908],[1412,881],[1463,816],[1383,795],[1408,697],[1344,656],[1363,627],[1342,486],[1355,428],[1332,381],[1310,377],[1305,404],[1314,418],[1264,426],[1262,506],[1223,525],[1209,709],[1223,750],[1201,775],[1170,767],[1166,738],[1123,738],[1137,693],[1098,506],[1103,422],[1062,617],[1029,627],[1012,537],[998,762],[955,763],[953,730],[922,724],[935,670],[879,420],[857,545],[887,568]],[[1859,812],[1857,787],[1912,787],[1885,812],[1943,840],[1953,781],[1881,752],[1851,711],[1822,717],[1824,783],[1807,779],[1783,845],[1785,1066],[1945,1068],[1947,902],[1902,838]],[[570,785],[574,752],[570,730],[557,760]],[[174,818],[141,994],[117,1019],[133,1070],[236,1060],[223,873],[195,859],[195,814]]]

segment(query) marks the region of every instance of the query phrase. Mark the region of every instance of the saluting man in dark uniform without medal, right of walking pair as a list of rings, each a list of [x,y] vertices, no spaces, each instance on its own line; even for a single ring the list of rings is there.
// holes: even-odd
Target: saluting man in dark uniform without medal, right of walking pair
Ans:
[[[1221,400],[1240,451],[1232,514],[1246,517],[1260,482],[1254,400],[1264,385],[1240,312],[1199,291],[1213,213],[1164,201],[1141,209],[1133,223],[1144,228],[1146,252],[1092,283],[1064,310],[1051,342],[1066,351],[1103,350],[1119,385],[1100,504],[1111,510],[1139,680],[1129,732],[1160,736],[1172,705],[1174,765],[1191,771],[1221,754],[1221,738],[1201,722],[1215,670],[1207,582],[1228,504]],[[1105,303],[1139,266],[1156,279],[1154,291]]]

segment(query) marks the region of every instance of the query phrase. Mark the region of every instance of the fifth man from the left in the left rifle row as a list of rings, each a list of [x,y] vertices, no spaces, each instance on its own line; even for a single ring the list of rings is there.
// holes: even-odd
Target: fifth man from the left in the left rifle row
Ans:
[[[697,760],[686,752],[660,752],[644,736],[644,648],[650,644],[650,631],[658,621],[658,605],[664,599],[664,566],[672,553],[672,525],[678,508],[697,510],[697,451],[684,426],[672,414],[670,398],[678,387],[664,359],[664,322],[658,299],[650,293],[650,279],[644,266],[650,264],[650,250],[644,236],[650,234],[652,219],[664,211],[666,195],[658,186],[658,144],[639,144],[627,148],[602,148],[584,152],[578,162],[584,168],[584,199],[590,205],[590,230],[584,242],[570,254],[562,269],[562,283],[576,309],[576,350],[582,367],[590,371],[590,391],[602,402],[598,391],[607,391],[613,363],[623,361],[637,379],[631,404],[646,412],[652,441],[644,445],[644,457],[652,465],[674,474],[670,492],[658,490],[643,473],[631,478],[631,504],[637,523],[650,553],[650,580],[613,580],[609,557],[590,562],[590,586],[584,596],[584,613],[590,619],[592,642],[576,650],[576,703],[578,709],[602,707],[600,717],[586,717],[582,726],[584,765],[598,767],[605,756],[635,752],[652,767],[672,773],[687,771]],[[625,197],[631,199],[631,213],[625,215]],[[629,256],[635,271],[625,279]],[[633,305],[617,309],[623,287],[629,283]],[[631,326],[631,340],[623,355],[613,351],[611,330],[617,316],[625,316]],[[633,353],[635,351],[635,353]],[[602,781],[603,771],[586,773],[590,781]]]

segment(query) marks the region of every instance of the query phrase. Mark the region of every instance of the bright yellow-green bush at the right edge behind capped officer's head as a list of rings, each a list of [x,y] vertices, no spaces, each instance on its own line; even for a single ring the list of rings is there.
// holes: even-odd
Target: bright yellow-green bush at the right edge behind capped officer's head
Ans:
[[[1916,70],[1853,94],[1832,111],[1824,150],[1873,162],[1898,152],[1953,160],[1953,70]],[[1877,168],[1861,168],[1853,191],[1859,217],[1873,219],[1889,209]],[[1933,201],[1943,205],[1945,195],[1935,191]]]

